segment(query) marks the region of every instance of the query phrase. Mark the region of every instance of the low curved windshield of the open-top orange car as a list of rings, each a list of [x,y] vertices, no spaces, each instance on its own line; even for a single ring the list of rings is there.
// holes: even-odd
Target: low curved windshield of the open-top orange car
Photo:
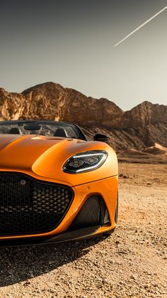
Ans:
[[[54,121],[1,121],[0,134],[40,134],[47,137],[86,140],[77,125]]]

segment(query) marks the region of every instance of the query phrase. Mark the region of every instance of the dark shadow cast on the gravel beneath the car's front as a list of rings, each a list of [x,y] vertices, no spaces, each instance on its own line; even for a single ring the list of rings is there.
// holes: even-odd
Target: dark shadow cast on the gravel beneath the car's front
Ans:
[[[104,237],[70,243],[0,248],[0,287],[28,281],[86,255]]]

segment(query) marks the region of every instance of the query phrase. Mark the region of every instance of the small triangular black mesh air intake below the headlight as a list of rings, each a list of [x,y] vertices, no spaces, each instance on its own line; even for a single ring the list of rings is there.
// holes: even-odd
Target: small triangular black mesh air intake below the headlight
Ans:
[[[68,230],[78,230],[93,225],[107,225],[110,222],[108,209],[101,196],[91,196],[82,206]]]

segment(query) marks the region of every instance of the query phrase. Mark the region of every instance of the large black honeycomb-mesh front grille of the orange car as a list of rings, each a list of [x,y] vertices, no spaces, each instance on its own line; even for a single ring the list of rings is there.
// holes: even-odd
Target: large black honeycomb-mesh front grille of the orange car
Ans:
[[[73,191],[68,186],[0,172],[0,235],[54,230],[72,200]]]

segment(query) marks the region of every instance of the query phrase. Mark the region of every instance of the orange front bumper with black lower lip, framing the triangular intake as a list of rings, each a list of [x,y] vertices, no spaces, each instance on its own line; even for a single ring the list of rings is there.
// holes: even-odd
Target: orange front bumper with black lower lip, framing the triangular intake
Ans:
[[[62,218],[62,221],[59,223],[57,228],[47,233],[36,233],[30,235],[0,235],[0,245],[11,246],[52,242],[58,243],[68,240],[88,238],[89,236],[105,233],[115,228],[117,176],[72,186],[71,188],[74,191],[74,199],[71,203],[71,206],[69,207],[69,210],[64,215],[64,218]],[[105,206],[108,210],[108,223],[94,223],[93,226],[82,226],[82,228],[81,226],[77,228],[76,225],[75,230],[70,230],[70,227],[72,223],[74,223],[76,216],[79,215],[79,212],[86,204],[86,201],[88,201],[88,198],[92,196],[100,196],[103,198]]]

